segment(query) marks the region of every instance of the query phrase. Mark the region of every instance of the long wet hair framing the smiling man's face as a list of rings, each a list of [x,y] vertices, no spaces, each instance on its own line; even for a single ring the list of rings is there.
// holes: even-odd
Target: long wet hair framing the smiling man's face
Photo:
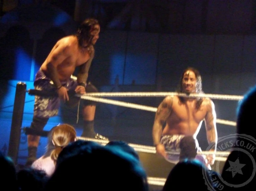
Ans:
[[[195,73],[195,77],[196,77],[196,93],[204,93],[203,89],[202,89],[202,78],[201,78],[201,75],[200,75],[199,71],[196,70],[193,67],[188,67],[188,68],[186,68],[183,71],[182,76],[180,77],[180,81],[179,81],[179,84],[178,84],[176,92],[178,92],[178,93],[185,93],[184,90],[183,90],[183,77],[184,77],[184,74],[188,70]],[[184,97],[179,97],[179,100],[180,100],[180,102],[185,103],[185,98]],[[197,110],[200,108],[202,102],[203,102],[202,98],[200,98],[200,97],[196,98],[196,109]]]

